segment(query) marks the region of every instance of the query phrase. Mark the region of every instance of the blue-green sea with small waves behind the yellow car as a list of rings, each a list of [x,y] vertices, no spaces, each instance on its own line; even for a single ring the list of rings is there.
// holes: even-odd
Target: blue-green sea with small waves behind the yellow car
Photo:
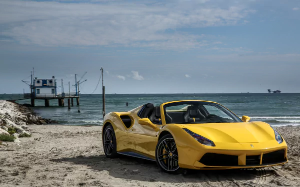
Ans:
[[[10,99],[17,95],[0,95]],[[264,121],[274,126],[300,125],[300,93],[280,94],[106,94],[106,113],[128,111],[145,103],[155,106],[163,102],[185,99],[199,99],[218,102],[237,116],[247,115],[251,121]],[[30,100],[17,101],[20,104]],[[126,106],[128,103],[128,107]],[[102,96],[100,94],[80,95],[80,113],[74,106],[67,109],[58,106],[57,100],[50,100],[50,107],[44,107],[43,100],[35,100],[34,111],[43,118],[58,121],[61,125],[102,125]]]

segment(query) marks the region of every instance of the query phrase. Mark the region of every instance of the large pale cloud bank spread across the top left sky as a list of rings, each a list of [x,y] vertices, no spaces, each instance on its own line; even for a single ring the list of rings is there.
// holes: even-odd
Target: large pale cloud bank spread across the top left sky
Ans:
[[[88,2],[88,1],[87,1]],[[140,1],[64,3],[0,1],[1,34],[41,46],[138,46],[160,49],[201,47],[201,34],[177,28],[235,25],[253,10],[211,6],[207,0],[176,3]],[[166,32],[166,30],[168,30]]]

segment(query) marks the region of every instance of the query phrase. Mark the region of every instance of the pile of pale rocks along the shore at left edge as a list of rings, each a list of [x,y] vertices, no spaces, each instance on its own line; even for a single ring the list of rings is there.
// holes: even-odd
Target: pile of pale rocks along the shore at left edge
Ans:
[[[13,136],[14,142],[18,137],[30,137],[29,125],[44,125],[57,123],[50,119],[38,116],[26,106],[15,102],[0,100],[0,135]]]

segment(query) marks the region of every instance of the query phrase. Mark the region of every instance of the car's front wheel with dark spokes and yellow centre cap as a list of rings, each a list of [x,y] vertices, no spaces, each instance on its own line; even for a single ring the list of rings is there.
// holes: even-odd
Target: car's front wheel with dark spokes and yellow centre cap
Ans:
[[[163,172],[169,174],[178,173],[178,152],[172,135],[165,135],[158,141],[155,150],[155,158],[158,167]]]

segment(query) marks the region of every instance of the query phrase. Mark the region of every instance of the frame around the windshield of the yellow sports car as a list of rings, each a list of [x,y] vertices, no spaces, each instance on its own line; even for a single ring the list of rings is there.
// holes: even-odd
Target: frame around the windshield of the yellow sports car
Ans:
[[[222,112],[224,112],[226,115],[228,115],[229,117],[231,117],[234,122],[230,122],[230,123],[240,123],[243,122],[238,116],[236,116],[233,112],[231,112],[228,108],[224,107],[223,105],[216,103],[216,102],[212,102],[212,101],[202,101],[202,100],[182,100],[182,101],[171,101],[171,102],[166,102],[166,103],[162,103],[160,105],[160,113],[161,113],[161,121],[162,124],[166,125],[168,123],[166,123],[165,121],[165,116],[166,116],[166,108],[170,107],[170,106],[176,106],[176,105],[184,105],[184,104],[192,104],[192,103],[199,103],[199,104],[203,104],[203,105],[212,105],[214,107],[216,107],[217,109],[221,110]],[[205,106],[204,106],[205,107]],[[215,122],[215,123],[220,123],[220,122]],[[221,123],[227,123],[227,122],[221,122]],[[194,122],[184,122],[184,123],[174,123],[174,124],[207,124],[207,122],[204,123],[194,123]]]

